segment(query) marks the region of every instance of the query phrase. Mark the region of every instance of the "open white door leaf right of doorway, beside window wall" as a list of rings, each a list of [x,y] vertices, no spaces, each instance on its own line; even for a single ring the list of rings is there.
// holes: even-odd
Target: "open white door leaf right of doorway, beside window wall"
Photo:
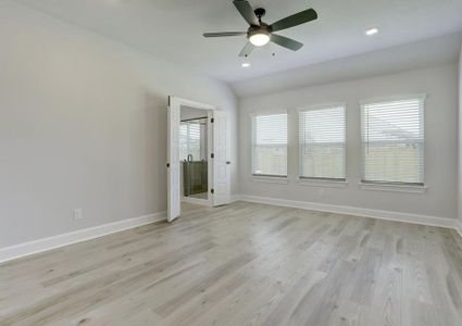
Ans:
[[[213,205],[230,201],[230,134],[227,112],[213,111]]]

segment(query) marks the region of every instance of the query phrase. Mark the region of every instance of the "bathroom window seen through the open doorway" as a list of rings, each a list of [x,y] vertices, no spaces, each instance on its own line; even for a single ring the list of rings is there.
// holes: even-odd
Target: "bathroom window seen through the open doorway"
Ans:
[[[201,125],[198,121],[182,122],[179,125],[179,160],[201,159]]]

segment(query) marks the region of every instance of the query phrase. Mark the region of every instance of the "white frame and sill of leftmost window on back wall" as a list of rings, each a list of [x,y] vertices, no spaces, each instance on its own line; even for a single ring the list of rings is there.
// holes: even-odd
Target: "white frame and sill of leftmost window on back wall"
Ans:
[[[287,156],[286,156],[286,166],[287,166],[287,173],[286,175],[272,175],[272,174],[255,174],[254,171],[254,152],[253,152],[253,145],[255,143],[255,133],[253,130],[253,120],[257,116],[262,115],[278,115],[278,114],[286,114],[287,116]],[[288,184],[288,174],[289,174],[289,138],[290,138],[290,117],[289,112],[287,110],[267,110],[267,111],[257,111],[249,114],[250,118],[250,174],[249,179],[252,181],[260,181],[260,183],[269,183],[269,184]]]

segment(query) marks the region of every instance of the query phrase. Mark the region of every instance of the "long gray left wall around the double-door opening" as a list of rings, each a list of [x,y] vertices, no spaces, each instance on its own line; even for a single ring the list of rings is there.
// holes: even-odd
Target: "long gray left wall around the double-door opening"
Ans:
[[[168,95],[230,112],[237,156],[222,83],[10,1],[0,40],[0,248],[164,211]]]

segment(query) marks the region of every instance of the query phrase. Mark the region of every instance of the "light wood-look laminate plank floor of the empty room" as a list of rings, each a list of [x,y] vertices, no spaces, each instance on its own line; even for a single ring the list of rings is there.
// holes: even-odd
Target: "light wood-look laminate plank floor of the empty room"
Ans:
[[[0,325],[462,325],[453,230],[236,202],[0,265]]]

